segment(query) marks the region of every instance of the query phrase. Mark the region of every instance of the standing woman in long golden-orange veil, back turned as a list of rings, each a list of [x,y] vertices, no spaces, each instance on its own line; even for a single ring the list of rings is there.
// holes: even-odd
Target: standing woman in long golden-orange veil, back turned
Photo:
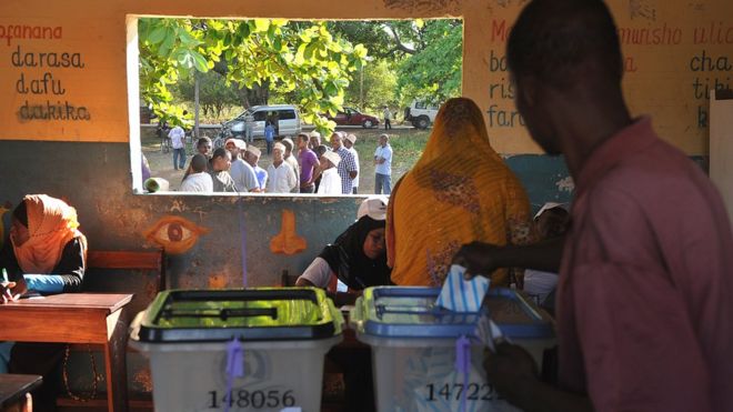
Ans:
[[[526,193],[491,148],[472,100],[441,107],[422,157],[392,191],[386,224],[388,263],[400,285],[441,285],[464,243],[535,241]],[[492,285],[508,278],[499,270]]]

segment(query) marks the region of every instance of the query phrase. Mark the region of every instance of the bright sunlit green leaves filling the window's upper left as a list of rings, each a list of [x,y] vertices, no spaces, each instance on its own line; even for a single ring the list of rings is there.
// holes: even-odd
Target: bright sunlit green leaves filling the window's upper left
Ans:
[[[267,103],[270,89],[298,90],[303,119],[332,129],[319,114],[341,108],[344,89],[366,57],[362,44],[334,38],[324,22],[144,18],[138,33],[141,97],[163,118],[183,118],[172,84],[213,69],[227,84],[264,90],[254,103]]]

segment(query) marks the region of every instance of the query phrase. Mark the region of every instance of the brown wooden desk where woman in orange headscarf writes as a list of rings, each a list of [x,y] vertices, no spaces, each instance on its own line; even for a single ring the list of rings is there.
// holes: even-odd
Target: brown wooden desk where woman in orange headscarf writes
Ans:
[[[108,411],[128,410],[127,322],[132,294],[62,293],[0,304],[0,341],[96,343],[103,346]]]

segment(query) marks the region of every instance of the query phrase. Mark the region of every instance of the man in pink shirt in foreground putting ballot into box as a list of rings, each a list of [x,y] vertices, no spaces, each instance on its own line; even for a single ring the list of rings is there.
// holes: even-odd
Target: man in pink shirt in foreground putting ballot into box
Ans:
[[[575,181],[564,243],[464,245],[470,273],[560,269],[559,388],[521,348],[486,353],[525,411],[733,411],[733,235],[700,168],[632,119],[602,1],[533,0],[508,42],[516,108]],[[561,259],[562,257],[562,259]]]

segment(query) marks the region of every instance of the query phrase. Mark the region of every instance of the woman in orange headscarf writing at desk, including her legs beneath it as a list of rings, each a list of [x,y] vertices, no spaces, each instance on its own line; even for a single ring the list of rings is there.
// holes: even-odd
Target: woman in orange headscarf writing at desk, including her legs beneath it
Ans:
[[[87,263],[87,238],[78,230],[77,211],[59,199],[29,194],[13,210],[10,242],[0,251],[0,303],[27,292],[53,294],[81,290]],[[4,274],[3,273],[3,274]],[[10,322],[10,321],[9,321]],[[0,373],[44,375],[33,393],[40,411],[54,410],[50,373],[63,355],[63,344],[0,342]]]

